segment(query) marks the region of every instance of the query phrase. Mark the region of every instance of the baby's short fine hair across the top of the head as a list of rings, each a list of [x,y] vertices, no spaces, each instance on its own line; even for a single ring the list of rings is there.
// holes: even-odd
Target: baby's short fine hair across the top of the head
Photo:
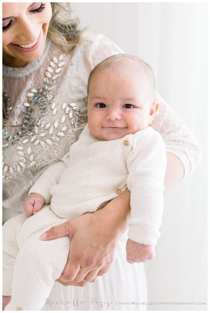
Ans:
[[[101,63],[96,65],[94,69],[90,72],[88,78],[88,93],[89,93],[89,86],[91,81],[93,80],[94,74],[98,72],[103,72],[106,69],[118,69],[123,67],[124,69],[131,70],[137,69],[139,73],[143,75],[145,81],[148,81],[149,86],[151,87],[151,97],[154,100],[155,97],[155,79],[153,70],[151,67],[145,63],[143,60],[130,55],[130,54],[115,54],[111,55],[107,59],[103,60]]]

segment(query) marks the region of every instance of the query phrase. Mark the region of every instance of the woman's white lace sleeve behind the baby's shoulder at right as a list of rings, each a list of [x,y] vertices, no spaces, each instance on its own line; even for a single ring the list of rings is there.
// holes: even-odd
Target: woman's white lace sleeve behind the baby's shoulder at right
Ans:
[[[152,126],[163,137],[166,151],[173,153],[182,161],[184,177],[186,177],[200,162],[200,147],[194,133],[187,128],[157,92],[156,99],[160,101],[160,109]]]

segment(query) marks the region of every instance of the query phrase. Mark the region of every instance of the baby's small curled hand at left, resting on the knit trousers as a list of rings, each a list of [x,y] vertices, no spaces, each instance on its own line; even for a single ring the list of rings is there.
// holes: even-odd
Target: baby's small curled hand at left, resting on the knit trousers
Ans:
[[[32,216],[41,210],[44,206],[45,199],[38,193],[31,193],[23,203],[23,209],[27,216]]]

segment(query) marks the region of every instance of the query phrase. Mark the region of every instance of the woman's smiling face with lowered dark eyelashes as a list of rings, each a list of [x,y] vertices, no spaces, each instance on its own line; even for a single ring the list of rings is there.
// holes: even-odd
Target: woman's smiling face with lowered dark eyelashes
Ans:
[[[50,3],[3,3],[3,63],[25,67],[40,58],[51,17]]]

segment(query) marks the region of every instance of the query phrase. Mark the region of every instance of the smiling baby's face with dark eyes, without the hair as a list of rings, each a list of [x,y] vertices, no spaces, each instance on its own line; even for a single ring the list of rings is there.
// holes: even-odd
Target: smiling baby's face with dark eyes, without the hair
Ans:
[[[134,134],[152,122],[148,83],[137,71],[106,70],[94,74],[88,92],[88,126],[100,140]],[[150,97],[151,98],[151,97]]]

